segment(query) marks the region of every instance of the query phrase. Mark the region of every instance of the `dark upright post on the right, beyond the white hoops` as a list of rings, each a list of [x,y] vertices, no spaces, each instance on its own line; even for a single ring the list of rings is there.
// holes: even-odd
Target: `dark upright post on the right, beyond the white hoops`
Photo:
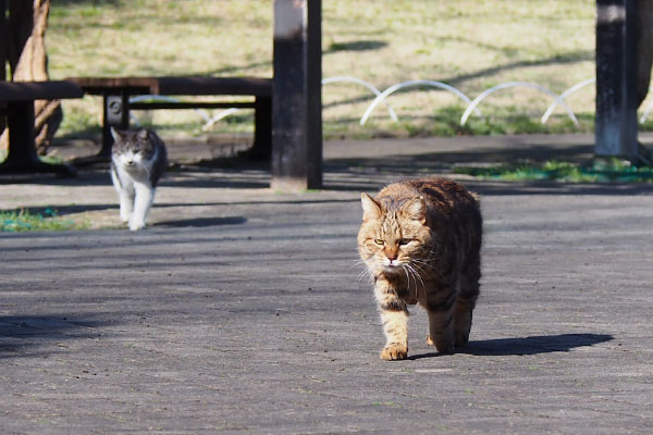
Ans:
[[[596,157],[638,160],[637,0],[596,0]]]

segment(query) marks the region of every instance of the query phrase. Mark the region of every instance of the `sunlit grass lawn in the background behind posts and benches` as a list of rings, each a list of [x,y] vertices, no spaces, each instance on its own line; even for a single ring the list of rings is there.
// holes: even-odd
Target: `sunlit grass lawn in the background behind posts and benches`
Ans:
[[[328,0],[323,1],[323,77],[354,76],[383,90],[410,79],[455,86],[473,99],[504,82],[533,82],[555,92],[594,76],[594,0]],[[52,78],[81,75],[272,74],[270,0],[52,0],[47,34]],[[366,88],[323,88],[328,137],[375,137],[534,132],[589,132],[594,88],[567,101],[580,121],[558,108],[540,116],[551,97],[531,89],[493,94],[458,125],[466,104],[442,90],[411,89],[389,98],[399,122]],[[646,102],[645,102],[646,103]],[[644,103],[644,104],[645,104]],[[61,134],[97,132],[100,103],[64,101]],[[218,112],[218,111],[217,111]],[[217,113],[215,112],[215,113]],[[163,134],[200,135],[193,111],[140,114]],[[213,133],[251,129],[251,113],[218,122]]]

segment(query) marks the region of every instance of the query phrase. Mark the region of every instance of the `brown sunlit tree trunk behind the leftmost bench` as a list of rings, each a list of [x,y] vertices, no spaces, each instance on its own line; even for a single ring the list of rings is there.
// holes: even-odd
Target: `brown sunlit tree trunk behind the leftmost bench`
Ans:
[[[8,60],[13,82],[48,79],[48,59],[45,36],[48,27],[50,0],[9,0]],[[38,100],[34,103],[36,146],[39,153],[50,146],[61,124],[63,112],[59,100]],[[0,147],[7,147],[7,132]]]

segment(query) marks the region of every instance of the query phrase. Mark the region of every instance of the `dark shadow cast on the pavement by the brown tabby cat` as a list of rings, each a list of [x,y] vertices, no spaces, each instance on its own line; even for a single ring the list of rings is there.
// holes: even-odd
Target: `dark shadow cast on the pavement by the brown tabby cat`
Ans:
[[[525,338],[494,338],[469,341],[467,346],[456,349],[456,353],[477,357],[506,357],[568,352],[579,347],[588,347],[614,339],[608,334],[559,334],[535,335]],[[408,357],[409,360],[440,357],[443,353],[428,352]]]

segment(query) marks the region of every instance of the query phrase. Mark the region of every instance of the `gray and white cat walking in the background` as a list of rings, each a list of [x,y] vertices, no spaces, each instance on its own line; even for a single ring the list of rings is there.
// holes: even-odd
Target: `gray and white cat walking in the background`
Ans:
[[[111,179],[120,197],[120,219],[130,229],[140,229],[168,165],[165,145],[150,129],[123,132],[112,127],[111,135]]]

